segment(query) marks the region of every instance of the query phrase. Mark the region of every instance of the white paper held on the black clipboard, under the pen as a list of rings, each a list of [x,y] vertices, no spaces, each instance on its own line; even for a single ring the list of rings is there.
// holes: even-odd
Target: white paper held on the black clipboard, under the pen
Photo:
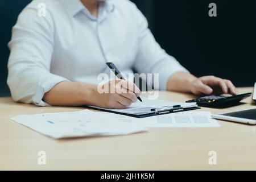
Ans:
[[[126,113],[126,114],[134,114],[134,115],[141,115],[141,114],[150,114],[154,113],[151,109],[163,109],[163,107],[172,107],[176,105],[181,105],[183,108],[187,107],[196,107],[196,102],[191,103],[183,103],[183,102],[170,102],[170,101],[163,101],[163,100],[148,100],[147,98],[142,98],[143,102],[137,101],[133,103],[127,109],[104,109],[109,111],[117,111],[119,113]],[[94,106],[93,106],[94,107]],[[98,109],[103,109],[100,107],[94,107]]]

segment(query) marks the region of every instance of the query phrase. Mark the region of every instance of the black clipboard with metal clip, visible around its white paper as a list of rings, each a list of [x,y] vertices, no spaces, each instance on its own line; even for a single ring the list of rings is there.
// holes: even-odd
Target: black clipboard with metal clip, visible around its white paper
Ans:
[[[127,115],[129,117],[134,117],[134,118],[147,118],[147,117],[152,117],[152,116],[156,116],[156,115],[165,115],[165,114],[180,113],[180,112],[189,111],[189,110],[201,109],[201,107],[197,107],[197,106],[187,107],[187,108],[174,106],[171,109],[164,109],[164,111],[155,111],[155,113],[136,115],[136,114],[127,114],[127,113],[122,113],[122,112],[118,112],[118,111],[106,110],[106,109],[93,107],[93,106],[85,106],[85,107],[87,107],[88,109],[100,110],[100,111],[104,111],[104,112],[108,112],[108,113]]]

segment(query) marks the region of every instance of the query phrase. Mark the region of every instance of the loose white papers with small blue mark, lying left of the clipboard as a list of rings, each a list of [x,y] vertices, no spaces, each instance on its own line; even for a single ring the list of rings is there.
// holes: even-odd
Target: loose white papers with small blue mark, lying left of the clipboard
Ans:
[[[146,131],[141,126],[122,122],[112,115],[99,115],[89,110],[19,115],[11,119],[55,139],[128,135]]]

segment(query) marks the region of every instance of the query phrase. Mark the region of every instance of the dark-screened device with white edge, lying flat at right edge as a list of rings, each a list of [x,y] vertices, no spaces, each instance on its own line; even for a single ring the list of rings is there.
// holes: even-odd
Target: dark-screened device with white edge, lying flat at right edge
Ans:
[[[242,110],[226,114],[214,114],[212,115],[212,118],[244,123],[247,125],[256,125],[256,109]]]

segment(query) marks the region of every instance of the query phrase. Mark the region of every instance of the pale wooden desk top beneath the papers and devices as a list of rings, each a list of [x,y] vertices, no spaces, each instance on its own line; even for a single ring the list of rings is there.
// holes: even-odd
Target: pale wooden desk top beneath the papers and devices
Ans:
[[[241,88],[240,93],[253,88]],[[189,94],[162,92],[160,99],[184,102]],[[212,113],[251,109],[251,98],[229,109],[201,109]],[[10,120],[19,114],[77,111],[74,107],[36,107],[0,98],[0,170],[169,170],[256,169],[256,127],[222,122],[210,129],[151,129],[122,137],[54,140]],[[46,151],[47,165],[39,166],[38,152]],[[217,152],[217,165],[208,163]]]

